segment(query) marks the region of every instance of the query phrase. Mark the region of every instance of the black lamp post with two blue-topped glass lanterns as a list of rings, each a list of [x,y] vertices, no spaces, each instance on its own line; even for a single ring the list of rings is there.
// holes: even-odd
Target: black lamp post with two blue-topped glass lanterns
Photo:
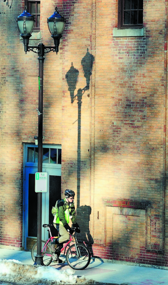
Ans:
[[[54,40],[54,47],[46,47],[43,43],[38,46],[29,46],[29,39],[32,36],[32,31],[35,25],[35,18],[28,13],[26,7],[20,16],[16,19],[20,36],[23,38],[24,51],[33,51],[38,54],[39,61],[39,98],[38,98],[38,172],[42,172],[42,158],[43,158],[43,63],[45,53],[50,51],[58,53],[59,43],[62,33],[65,29],[66,20],[62,17],[55,8],[55,12],[47,19],[48,28],[51,37]],[[38,224],[37,224],[37,255],[35,257],[34,265],[42,266],[43,255],[41,254],[41,240],[42,240],[42,192],[38,192]]]

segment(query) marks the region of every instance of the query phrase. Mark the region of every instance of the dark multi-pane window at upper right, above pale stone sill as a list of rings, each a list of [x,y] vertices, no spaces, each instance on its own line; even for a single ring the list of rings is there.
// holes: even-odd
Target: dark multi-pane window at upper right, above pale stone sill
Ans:
[[[143,0],[118,1],[118,29],[143,27]]]

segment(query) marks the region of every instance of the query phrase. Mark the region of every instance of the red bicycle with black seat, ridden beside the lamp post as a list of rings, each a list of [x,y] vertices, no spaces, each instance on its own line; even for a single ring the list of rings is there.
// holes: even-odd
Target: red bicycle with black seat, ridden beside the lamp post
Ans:
[[[58,260],[55,258],[57,254],[51,251],[49,246],[49,242],[53,241],[53,238],[58,238],[58,236],[51,236],[50,230],[51,224],[43,224],[43,228],[48,228],[48,232],[50,233],[50,238],[48,240],[42,240],[42,255],[43,255],[43,263],[45,266],[48,266],[53,260]],[[75,231],[75,228],[72,228]],[[70,243],[73,242],[72,245]],[[64,251],[64,253],[63,253]],[[68,265],[75,270],[85,269],[90,263],[90,251],[84,244],[80,244],[77,241],[76,233],[70,235],[69,240],[61,249],[63,254],[60,255],[61,258],[65,258],[66,253],[66,261]],[[32,246],[31,255],[33,261],[35,261],[35,256],[37,255],[37,242]]]

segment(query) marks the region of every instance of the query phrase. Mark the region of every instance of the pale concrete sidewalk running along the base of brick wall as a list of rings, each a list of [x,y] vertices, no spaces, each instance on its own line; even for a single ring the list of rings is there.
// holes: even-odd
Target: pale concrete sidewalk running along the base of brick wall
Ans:
[[[0,259],[15,259],[24,264],[33,265],[30,251],[10,250],[0,248]],[[69,268],[67,263],[55,264],[50,266],[58,270],[66,270]],[[76,270],[77,276],[84,275],[88,279],[93,279],[97,282],[113,283],[113,284],[165,284],[168,285],[168,270],[156,269],[131,265],[122,265],[116,263],[105,263],[91,259],[88,268],[84,270]]]

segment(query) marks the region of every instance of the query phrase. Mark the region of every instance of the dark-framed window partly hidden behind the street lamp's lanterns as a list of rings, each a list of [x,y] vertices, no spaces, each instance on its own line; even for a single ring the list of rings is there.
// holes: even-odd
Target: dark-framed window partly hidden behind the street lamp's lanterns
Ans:
[[[34,31],[40,30],[40,1],[25,0],[25,5],[27,6],[28,12],[36,19]]]

